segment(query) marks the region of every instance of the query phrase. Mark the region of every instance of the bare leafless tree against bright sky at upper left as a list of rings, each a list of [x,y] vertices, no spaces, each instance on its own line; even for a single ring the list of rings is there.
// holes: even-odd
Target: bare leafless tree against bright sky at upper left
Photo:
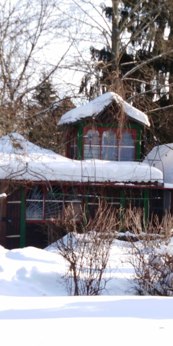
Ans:
[[[71,47],[70,43],[62,47],[63,31],[65,39],[68,25],[48,0],[1,1],[1,134],[21,128],[25,132],[25,119],[43,113],[42,109],[36,115],[37,112],[30,107],[30,100],[33,92],[64,64]],[[59,44],[60,53],[55,57],[54,45],[58,48]]]

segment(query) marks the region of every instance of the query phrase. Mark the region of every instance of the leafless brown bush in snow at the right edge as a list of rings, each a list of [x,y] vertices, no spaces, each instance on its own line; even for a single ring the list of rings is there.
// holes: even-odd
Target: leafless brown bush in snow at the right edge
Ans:
[[[158,218],[153,223],[149,223],[153,233],[141,234],[140,242],[129,238],[128,261],[135,270],[135,287],[140,295],[173,296],[173,217],[165,215],[157,231]]]

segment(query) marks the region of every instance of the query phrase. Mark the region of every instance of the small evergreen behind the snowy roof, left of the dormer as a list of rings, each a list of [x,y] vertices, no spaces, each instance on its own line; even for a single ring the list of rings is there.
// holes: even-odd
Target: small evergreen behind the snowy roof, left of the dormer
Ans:
[[[29,110],[32,116],[28,119],[26,128],[29,128],[30,142],[65,155],[65,134],[57,127],[57,122],[65,112],[74,108],[74,105],[68,98],[61,102],[57,100],[56,91],[48,79],[33,95]]]

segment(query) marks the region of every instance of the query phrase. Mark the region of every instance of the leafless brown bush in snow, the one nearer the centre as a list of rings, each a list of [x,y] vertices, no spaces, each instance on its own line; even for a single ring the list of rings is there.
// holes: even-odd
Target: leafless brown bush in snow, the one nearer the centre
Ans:
[[[63,279],[68,293],[99,295],[110,280],[110,249],[121,220],[115,210],[100,203],[94,219],[87,220],[83,213],[79,233],[72,207],[65,214],[62,227],[66,236],[57,240],[55,246],[67,263]]]

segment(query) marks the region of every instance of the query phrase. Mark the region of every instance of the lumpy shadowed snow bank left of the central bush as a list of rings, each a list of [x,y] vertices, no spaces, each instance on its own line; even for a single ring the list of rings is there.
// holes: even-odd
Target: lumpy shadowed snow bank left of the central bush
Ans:
[[[57,254],[26,247],[6,250],[0,248],[0,294],[7,296],[41,297],[66,295],[63,282],[65,263]]]

